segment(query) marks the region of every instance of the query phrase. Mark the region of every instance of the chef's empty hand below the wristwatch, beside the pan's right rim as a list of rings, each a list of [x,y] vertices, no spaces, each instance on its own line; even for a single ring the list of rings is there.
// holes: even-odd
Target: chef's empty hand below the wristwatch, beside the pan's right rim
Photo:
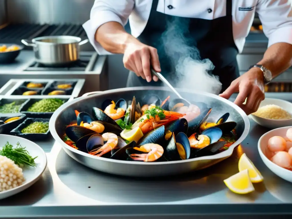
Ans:
[[[265,99],[263,72],[259,68],[251,68],[248,72],[232,81],[231,85],[219,96],[229,99],[235,92],[239,92],[234,101],[236,105],[241,107],[247,115],[256,112],[260,102]],[[247,101],[244,105],[246,98]]]

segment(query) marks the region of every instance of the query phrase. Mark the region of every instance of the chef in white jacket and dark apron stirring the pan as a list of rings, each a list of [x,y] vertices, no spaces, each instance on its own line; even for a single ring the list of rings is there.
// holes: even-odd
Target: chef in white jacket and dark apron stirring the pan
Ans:
[[[262,60],[239,76],[236,56],[256,12],[269,38],[268,48]],[[174,78],[165,48],[159,46],[174,18],[187,23],[189,46],[213,62],[212,74],[222,83],[220,96],[228,99],[239,92],[234,103],[246,114],[255,112],[265,98],[264,85],[291,66],[290,0],[95,0],[83,27],[99,54],[124,54],[124,66],[130,70],[128,87],[162,86],[150,66],[168,80]],[[124,29],[128,20],[132,35]]]

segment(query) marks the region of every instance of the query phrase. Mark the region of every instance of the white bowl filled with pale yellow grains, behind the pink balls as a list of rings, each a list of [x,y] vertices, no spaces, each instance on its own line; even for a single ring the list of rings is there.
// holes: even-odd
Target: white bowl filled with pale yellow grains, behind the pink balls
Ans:
[[[265,105],[277,105],[279,107],[282,107],[284,110],[286,110],[289,114],[292,115],[292,103],[288,102],[286,100],[280,100],[280,99],[273,99],[273,98],[265,98],[260,103],[260,107],[263,107]],[[253,114],[250,114],[253,121],[258,123],[261,126],[267,127],[267,128],[281,128],[285,126],[292,126],[292,119],[264,119],[258,116],[255,116]]]

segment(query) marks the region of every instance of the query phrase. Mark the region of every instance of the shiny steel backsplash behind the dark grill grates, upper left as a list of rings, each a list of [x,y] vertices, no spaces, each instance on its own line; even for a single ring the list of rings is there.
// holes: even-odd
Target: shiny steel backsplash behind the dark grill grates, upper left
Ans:
[[[3,0],[0,0],[0,3]],[[94,0],[8,0],[11,23],[83,24],[90,17]],[[1,12],[1,4],[0,4]]]

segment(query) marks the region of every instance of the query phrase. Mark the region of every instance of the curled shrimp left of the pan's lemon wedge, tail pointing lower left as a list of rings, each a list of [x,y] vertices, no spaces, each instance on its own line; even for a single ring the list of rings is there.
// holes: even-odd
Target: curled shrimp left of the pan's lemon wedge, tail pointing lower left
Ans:
[[[95,155],[95,156],[102,156],[103,154],[106,154],[107,152],[110,152],[112,149],[115,149],[118,145],[118,136],[114,133],[106,132],[102,134],[103,141],[106,141],[106,143],[91,152],[89,154]]]

